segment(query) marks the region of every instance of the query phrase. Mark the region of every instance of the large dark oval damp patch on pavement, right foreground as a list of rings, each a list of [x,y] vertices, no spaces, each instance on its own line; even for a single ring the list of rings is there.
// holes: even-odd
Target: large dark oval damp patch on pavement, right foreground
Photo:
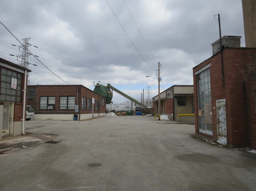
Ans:
[[[180,154],[176,156],[177,159],[186,161],[186,162],[195,162],[195,163],[218,163],[220,159],[212,155],[206,155],[203,153],[195,154]]]

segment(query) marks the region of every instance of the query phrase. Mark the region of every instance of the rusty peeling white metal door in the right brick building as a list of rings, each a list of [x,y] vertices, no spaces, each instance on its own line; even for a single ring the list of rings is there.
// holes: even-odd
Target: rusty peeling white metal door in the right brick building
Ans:
[[[216,100],[216,109],[217,109],[218,142],[223,145],[228,145],[226,99]]]

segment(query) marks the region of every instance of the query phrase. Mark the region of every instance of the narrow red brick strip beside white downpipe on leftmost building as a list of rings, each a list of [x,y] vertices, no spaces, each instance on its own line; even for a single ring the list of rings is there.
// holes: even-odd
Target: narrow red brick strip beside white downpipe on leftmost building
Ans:
[[[24,77],[25,74],[21,75],[21,90],[24,90]],[[27,89],[27,87],[26,87]],[[14,122],[21,121],[23,117],[23,97],[24,97],[24,91],[21,91],[21,102],[20,103],[14,103]],[[27,92],[26,92],[26,101],[27,101]],[[26,119],[26,108],[25,108],[25,119]]]

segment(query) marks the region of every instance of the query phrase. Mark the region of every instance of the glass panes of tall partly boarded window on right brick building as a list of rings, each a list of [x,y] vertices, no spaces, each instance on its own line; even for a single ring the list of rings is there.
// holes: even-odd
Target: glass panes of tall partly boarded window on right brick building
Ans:
[[[200,72],[197,75],[197,93],[198,93],[198,110],[202,110],[202,116],[199,116],[199,128],[212,131],[212,124],[205,123],[204,103],[211,101],[211,82],[210,68]]]

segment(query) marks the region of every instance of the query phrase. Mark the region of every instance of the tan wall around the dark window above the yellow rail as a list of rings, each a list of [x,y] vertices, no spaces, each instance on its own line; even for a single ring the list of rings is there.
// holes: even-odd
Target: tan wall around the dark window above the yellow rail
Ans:
[[[186,96],[186,106],[177,106],[177,99],[174,99],[174,113],[175,113],[175,121],[178,120],[179,114],[189,114],[192,113],[192,101],[194,101],[194,96]]]

